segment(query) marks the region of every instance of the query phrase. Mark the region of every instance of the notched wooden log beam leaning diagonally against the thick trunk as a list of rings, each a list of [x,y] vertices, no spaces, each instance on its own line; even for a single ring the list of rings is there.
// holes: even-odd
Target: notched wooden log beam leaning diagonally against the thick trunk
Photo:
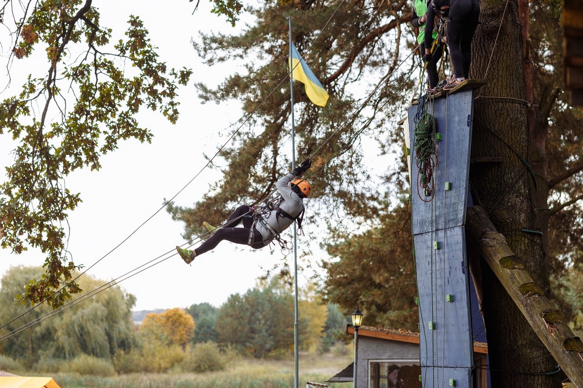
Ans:
[[[581,339],[573,334],[481,207],[468,208],[466,233],[561,369],[576,387],[583,387]]]

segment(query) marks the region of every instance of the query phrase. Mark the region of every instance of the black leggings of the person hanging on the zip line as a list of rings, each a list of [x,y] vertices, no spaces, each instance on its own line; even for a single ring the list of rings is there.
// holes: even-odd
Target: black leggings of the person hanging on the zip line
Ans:
[[[231,241],[235,244],[247,245],[249,241],[249,234],[253,226],[253,213],[247,205],[241,205],[231,215],[227,222],[216,229],[212,236],[209,237],[202,245],[196,248],[196,256],[202,255],[205,252],[215,249],[217,245],[223,240]],[[235,227],[243,221],[243,227]],[[254,240],[251,242],[251,248],[259,249],[265,247],[263,243],[263,236],[257,229],[254,229]]]

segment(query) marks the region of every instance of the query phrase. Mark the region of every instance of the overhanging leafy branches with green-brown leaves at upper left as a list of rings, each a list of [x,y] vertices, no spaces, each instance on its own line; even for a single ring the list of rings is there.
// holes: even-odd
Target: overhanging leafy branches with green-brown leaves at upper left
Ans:
[[[45,52],[48,71],[31,74],[20,94],[0,101],[0,135],[18,144],[0,184],[0,244],[17,254],[34,248],[46,255],[45,275],[27,283],[20,299],[38,303],[68,282],[50,297],[57,307],[80,292],[71,282],[79,267],[66,259],[64,224],[81,198],[66,188],[66,176],[99,169],[101,156],[121,140],[150,142],[152,132],[134,117],[141,108],[175,123],[177,88],[192,72],[160,61],[138,17],[130,17],[127,38],[112,47],[112,31],[100,25],[90,1],[29,1],[12,11],[17,24],[9,63],[36,63],[33,51]]]

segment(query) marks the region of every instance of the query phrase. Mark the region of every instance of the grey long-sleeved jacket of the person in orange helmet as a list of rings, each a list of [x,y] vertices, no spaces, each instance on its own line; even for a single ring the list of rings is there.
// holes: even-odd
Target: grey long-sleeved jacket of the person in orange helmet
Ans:
[[[283,177],[281,177],[278,182],[275,184],[275,187],[278,188],[279,193],[282,195],[283,202],[279,205],[279,208],[285,211],[292,217],[297,217],[300,215],[301,211],[304,209],[304,202],[301,200],[300,196],[291,190],[290,182],[294,180],[296,176],[292,173],[289,173]],[[263,217],[263,221],[271,227],[272,231],[270,231],[267,227],[265,227],[264,223],[259,220],[255,227],[263,236],[263,241],[265,245],[268,245],[273,240],[273,232],[279,234],[286,230],[294,220],[289,219],[285,216],[279,215],[276,209],[272,210],[269,215]],[[255,239],[258,241],[259,239]]]

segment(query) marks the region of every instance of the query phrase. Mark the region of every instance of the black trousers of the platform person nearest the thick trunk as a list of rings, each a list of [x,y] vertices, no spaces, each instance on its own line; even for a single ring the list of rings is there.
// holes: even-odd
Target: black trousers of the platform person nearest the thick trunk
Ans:
[[[468,79],[472,63],[472,38],[480,17],[478,0],[451,0],[447,23],[447,45],[456,77]]]

